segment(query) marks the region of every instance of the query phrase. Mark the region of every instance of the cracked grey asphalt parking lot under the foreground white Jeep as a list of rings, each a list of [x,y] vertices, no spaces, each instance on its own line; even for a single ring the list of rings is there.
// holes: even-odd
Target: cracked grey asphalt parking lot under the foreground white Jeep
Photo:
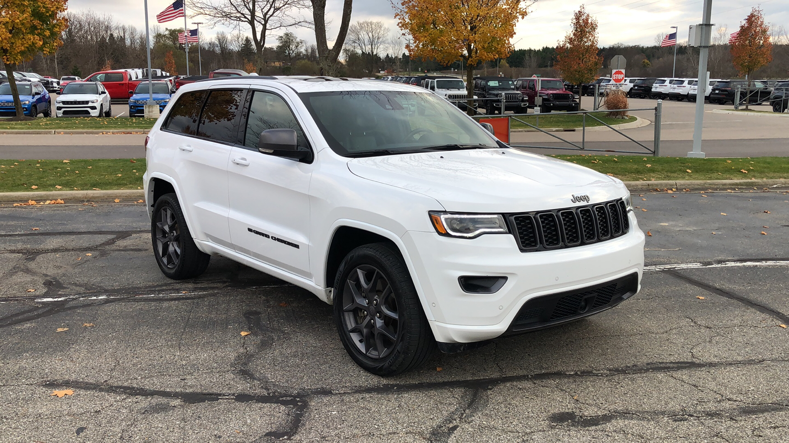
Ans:
[[[784,441],[789,195],[752,191],[635,194],[637,296],[386,379],[304,290],[164,278],[142,203],[6,205],[0,440]]]

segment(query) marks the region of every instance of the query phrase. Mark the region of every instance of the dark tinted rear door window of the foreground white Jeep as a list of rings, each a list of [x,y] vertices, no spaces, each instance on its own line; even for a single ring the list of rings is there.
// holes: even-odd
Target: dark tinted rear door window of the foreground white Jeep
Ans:
[[[200,114],[197,136],[225,143],[236,143],[238,138],[238,115],[245,91],[211,91]]]

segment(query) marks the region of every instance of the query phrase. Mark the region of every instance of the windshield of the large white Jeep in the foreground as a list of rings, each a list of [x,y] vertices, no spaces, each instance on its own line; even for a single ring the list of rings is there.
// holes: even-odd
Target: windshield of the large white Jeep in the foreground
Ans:
[[[300,96],[331,149],[346,157],[428,152],[438,147],[498,147],[456,106],[427,92],[331,91]]]

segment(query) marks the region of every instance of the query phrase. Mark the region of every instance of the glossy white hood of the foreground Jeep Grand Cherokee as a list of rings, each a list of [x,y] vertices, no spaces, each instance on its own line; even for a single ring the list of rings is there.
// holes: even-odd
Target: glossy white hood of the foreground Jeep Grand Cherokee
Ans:
[[[514,213],[622,197],[625,185],[592,169],[515,149],[425,152],[353,158],[351,173],[428,195],[445,210]],[[587,203],[580,203],[587,204]]]

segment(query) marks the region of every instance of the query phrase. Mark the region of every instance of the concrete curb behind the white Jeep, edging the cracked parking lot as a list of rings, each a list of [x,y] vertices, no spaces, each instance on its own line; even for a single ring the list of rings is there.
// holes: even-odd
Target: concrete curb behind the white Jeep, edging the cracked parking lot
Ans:
[[[760,189],[762,191],[789,189],[789,180],[667,180],[667,181],[626,181],[630,192],[663,192],[666,189],[682,191],[740,191]],[[117,191],[55,191],[55,192],[0,192],[0,203],[22,203],[28,200],[46,201],[63,199],[66,203],[134,203],[144,199],[142,189],[120,189]]]

